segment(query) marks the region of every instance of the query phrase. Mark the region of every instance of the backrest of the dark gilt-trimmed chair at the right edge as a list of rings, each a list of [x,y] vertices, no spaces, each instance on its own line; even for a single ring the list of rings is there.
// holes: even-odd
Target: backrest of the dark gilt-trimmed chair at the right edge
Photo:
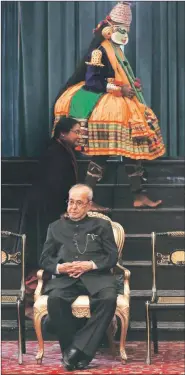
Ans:
[[[159,289],[166,290],[167,296],[172,292],[178,296],[184,289],[184,238],[184,231],[151,233],[152,302],[159,297]]]

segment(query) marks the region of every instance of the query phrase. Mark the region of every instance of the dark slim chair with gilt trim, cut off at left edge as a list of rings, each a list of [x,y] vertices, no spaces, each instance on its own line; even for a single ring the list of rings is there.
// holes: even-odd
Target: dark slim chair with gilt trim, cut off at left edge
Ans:
[[[25,344],[25,248],[26,235],[1,231],[1,316],[7,319],[9,311],[15,311],[18,327],[18,363],[23,361],[23,353],[26,353]],[[15,239],[15,246],[4,244],[3,240]],[[20,243],[19,243],[20,241]],[[11,242],[12,244],[12,242]],[[20,249],[17,251],[17,249]],[[8,314],[7,314],[8,313]]]

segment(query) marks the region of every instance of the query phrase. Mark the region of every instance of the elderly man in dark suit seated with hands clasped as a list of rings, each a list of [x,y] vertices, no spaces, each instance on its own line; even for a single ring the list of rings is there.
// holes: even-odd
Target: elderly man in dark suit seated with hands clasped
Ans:
[[[67,214],[49,225],[41,267],[56,275],[45,287],[50,329],[56,333],[68,370],[83,369],[93,359],[116,309],[116,280],[111,268],[118,259],[111,224],[87,216],[93,198],[87,185],[69,191]],[[91,317],[77,330],[71,304],[90,298]]]

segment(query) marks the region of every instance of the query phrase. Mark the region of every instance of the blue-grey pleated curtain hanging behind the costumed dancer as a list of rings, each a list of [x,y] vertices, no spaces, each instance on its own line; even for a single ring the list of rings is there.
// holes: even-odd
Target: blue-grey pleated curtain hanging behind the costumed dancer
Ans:
[[[40,155],[50,136],[55,97],[88,47],[93,28],[115,4],[2,3],[3,156]],[[160,119],[166,156],[182,157],[185,2],[136,2],[132,13],[125,53],[142,81],[146,102]]]

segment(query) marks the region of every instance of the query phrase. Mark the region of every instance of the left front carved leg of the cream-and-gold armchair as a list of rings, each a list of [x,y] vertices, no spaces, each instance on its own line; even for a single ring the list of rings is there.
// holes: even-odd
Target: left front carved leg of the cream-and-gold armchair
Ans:
[[[37,340],[38,340],[38,345],[39,345],[39,349],[38,349],[35,359],[38,364],[42,363],[42,359],[44,356],[44,340],[42,337],[42,327],[41,327],[41,320],[44,315],[47,315],[47,310],[40,312],[39,310],[37,310],[37,308],[34,307],[34,327],[35,327],[35,332],[37,335]]]

